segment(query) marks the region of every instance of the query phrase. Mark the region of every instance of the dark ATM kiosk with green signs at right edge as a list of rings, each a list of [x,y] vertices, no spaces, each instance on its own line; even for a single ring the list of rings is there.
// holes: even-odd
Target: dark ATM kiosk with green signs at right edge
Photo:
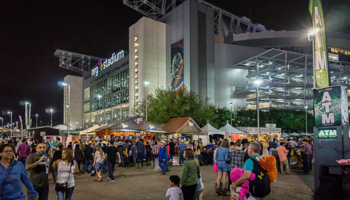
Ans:
[[[345,86],[315,89],[315,200],[343,199],[341,164],[350,159],[348,96]]]

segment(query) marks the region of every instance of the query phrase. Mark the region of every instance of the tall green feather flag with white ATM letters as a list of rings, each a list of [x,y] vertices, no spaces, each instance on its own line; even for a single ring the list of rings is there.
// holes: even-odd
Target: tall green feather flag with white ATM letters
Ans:
[[[315,33],[314,70],[317,88],[329,87],[328,56],[321,0],[310,0],[309,11]]]

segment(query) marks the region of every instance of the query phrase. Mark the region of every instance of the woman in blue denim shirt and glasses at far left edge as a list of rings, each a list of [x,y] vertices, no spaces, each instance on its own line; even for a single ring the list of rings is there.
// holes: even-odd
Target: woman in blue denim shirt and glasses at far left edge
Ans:
[[[37,200],[38,195],[27,177],[26,169],[21,162],[13,160],[13,150],[10,145],[0,145],[0,157],[0,199],[24,200],[22,180],[27,187],[28,199]]]

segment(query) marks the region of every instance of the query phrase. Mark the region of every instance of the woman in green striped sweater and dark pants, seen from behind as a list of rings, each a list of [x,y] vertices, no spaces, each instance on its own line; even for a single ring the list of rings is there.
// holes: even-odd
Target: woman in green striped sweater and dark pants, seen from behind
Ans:
[[[183,154],[185,161],[182,166],[182,176],[180,188],[184,200],[193,200],[198,183],[198,174],[201,168],[197,159],[194,159],[195,152],[193,149],[186,149]]]

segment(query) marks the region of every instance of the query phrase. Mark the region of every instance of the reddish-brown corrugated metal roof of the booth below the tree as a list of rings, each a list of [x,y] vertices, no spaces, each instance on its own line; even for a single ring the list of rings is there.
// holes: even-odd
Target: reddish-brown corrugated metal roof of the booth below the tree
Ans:
[[[194,126],[186,126],[187,123],[193,123]],[[197,123],[191,117],[182,117],[170,119],[163,127],[164,131],[168,133],[199,133],[202,129],[197,125]]]

